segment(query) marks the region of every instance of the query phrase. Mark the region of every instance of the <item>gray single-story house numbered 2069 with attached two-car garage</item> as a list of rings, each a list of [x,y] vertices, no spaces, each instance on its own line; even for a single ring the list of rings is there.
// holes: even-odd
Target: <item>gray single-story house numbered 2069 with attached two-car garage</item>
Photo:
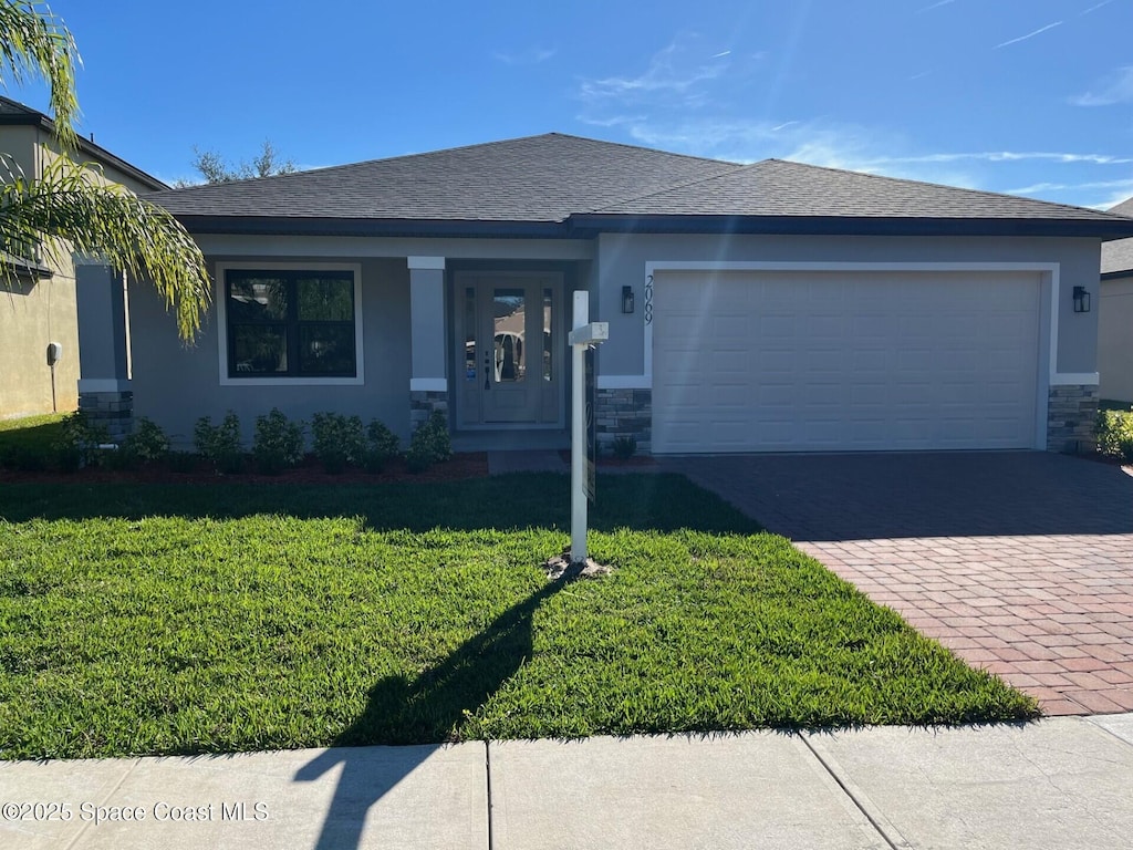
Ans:
[[[445,410],[563,442],[572,292],[610,323],[599,440],[654,453],[1077,448],[1098,399],[1092,210],[548,134],[148,196],[215,274],[193,348],[129,290],[135,414]],[[632,303],[632,305],[631,305]],[[105,379],[123,376],[105,375]]]

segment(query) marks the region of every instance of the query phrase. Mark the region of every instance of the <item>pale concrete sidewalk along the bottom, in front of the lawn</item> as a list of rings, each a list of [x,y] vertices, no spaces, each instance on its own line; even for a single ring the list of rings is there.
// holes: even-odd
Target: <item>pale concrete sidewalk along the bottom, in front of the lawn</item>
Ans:
[[[0,763],[3,848],[1127,848],[1133,714]]]

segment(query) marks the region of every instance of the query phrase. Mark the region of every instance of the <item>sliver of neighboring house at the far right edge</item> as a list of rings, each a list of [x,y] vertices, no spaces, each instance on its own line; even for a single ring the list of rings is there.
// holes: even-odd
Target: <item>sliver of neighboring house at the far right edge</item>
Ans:
[[[1133,216],[1133,198],[1109,212]],[[1133,239],[1101,246],[1098,371],[1101,398],[1133,405]]]

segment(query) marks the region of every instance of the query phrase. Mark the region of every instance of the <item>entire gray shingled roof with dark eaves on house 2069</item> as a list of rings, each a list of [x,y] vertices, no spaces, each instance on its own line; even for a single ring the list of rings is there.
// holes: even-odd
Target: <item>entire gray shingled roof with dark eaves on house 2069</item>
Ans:
[[[782,160],[751,165],[551,133],[147,196],[195,232],[1133,236],[1094,210]]]

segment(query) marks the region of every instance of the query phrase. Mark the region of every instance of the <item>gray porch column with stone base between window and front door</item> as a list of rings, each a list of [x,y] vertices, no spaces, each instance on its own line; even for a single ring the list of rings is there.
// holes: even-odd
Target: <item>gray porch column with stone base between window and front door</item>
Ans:
[[[449,415],[444,367],[444,257],[408,257],[409,262],[409,427],[416,430],[434,410]]]

